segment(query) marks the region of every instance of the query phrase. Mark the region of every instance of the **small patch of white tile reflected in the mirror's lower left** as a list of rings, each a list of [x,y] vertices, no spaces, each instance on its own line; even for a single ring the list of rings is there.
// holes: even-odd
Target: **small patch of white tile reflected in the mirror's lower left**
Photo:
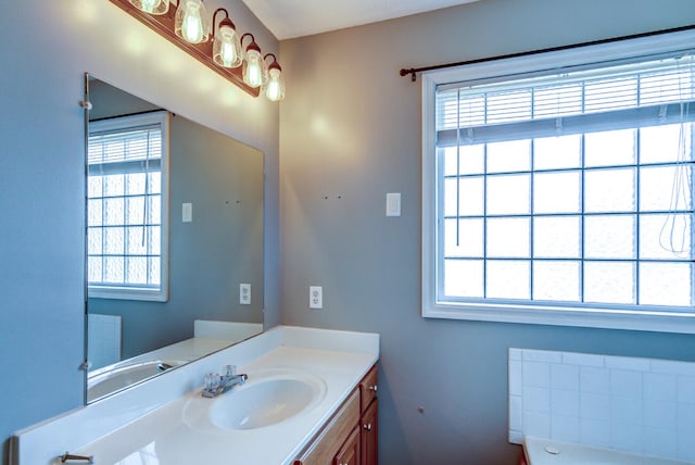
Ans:
[[[90,313],[87,317],[90,369],[121,361],[121,316]]]

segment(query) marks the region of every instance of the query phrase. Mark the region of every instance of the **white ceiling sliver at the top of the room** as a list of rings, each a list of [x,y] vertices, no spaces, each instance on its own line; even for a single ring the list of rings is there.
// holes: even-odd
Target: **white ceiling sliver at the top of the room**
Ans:
[[[243,0],[279,40],[478,0]]]

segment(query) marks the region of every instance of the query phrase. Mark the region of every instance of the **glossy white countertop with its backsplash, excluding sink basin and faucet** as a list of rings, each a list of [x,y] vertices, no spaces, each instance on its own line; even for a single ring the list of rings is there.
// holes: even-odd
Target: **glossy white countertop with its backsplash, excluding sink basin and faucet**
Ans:
[[[99,465],[289,464],[379,357],[379,336],[278,327],[201,361],[51,422],[20,431],[18,465],[56,464],[70,451]],[[292,369],[320,378],[325,395],[281,423],[249,430],[198,428],[187,409],[204,409],[203,375]],[[176,386],[173,386],[176,385]],[[233,389],[223,395],[233,395]],[[12,463],[12,462],[11,462]]]

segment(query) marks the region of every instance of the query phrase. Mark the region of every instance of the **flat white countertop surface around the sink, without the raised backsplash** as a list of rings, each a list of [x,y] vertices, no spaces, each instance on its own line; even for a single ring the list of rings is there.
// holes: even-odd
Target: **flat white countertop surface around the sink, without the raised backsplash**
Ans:
[[[311,411],[264,428],[200,431],[184,420],[186,406],[190,402],[210,404],[213,400],[203,399],[195,391],[77,453],[94,455],[97,464],[118,465],[291,463],[374,362],[367,354],[281,347],[239,367],[239,373],[248,373],[252,379],[257,370],[292,367],[320,377],[328,387],[326,397]],[[233,394],[232,389],[223,395]]]

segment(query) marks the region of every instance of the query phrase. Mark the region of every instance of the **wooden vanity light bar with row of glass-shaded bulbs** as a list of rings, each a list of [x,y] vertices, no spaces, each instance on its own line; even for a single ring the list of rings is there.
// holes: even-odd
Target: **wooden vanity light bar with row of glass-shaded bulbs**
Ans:
[[[253,35],[239,37],[227,10],[215,10],[211,27],[203,0],[110,1],[247,93],[258,97],[263,90],[271,101],[285,97],[285,80],[275,54],[265,55],[273,56],[268,67]],[[217,22],[219,14],[224,17]],[[251,42],[244,50],[247,36]]]

